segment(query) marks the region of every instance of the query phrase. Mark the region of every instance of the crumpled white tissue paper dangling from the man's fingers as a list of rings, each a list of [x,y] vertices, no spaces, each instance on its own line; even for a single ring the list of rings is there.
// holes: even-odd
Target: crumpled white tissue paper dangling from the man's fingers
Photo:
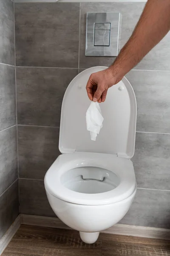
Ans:
[[[90,131],[91,140],[96,140],[97,134],[99,134],[102,128],[102,122],[104,118],[98,102],[91,102],[86,112],[86,125],[87,130]]]

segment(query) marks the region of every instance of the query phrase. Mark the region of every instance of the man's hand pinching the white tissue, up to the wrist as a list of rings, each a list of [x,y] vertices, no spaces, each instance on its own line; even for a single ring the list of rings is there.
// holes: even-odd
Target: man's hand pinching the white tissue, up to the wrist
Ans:
[[[111,68],[91,74],[86,85],[89,99],[94,102],[104,102],[108,89],[120,80],[113,76]]]

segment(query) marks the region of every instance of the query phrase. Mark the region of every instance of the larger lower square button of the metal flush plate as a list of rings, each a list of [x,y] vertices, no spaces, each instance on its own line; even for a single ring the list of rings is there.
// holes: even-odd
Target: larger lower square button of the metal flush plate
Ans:
[[[109,46],[109,45],[110,45],[110,30],[95,30],[94,46]]]

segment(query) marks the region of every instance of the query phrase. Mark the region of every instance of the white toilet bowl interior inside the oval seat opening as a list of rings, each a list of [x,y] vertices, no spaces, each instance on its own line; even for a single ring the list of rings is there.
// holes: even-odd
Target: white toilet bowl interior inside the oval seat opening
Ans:
[[[115,189],[120,178],[107,169],[83,166],[65,172],[61,176],[61,183],[74,192],[98,194]]]

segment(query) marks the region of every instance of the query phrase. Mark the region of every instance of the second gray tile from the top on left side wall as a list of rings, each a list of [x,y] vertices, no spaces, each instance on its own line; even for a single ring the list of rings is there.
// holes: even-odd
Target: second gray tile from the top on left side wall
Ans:
[[[0,64],[0,131],[15,124],[15,68]]]

